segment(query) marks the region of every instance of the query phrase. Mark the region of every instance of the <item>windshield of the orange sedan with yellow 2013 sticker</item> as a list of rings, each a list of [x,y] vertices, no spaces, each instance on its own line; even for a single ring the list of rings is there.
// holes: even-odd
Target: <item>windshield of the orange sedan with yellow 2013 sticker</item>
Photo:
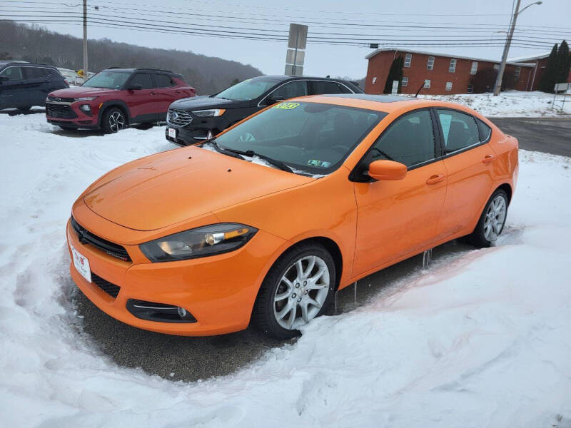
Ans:
[[[328,174],[386,115],[333,104],[283,102],[216,137],[216,143],[281,161],[296,172]]]

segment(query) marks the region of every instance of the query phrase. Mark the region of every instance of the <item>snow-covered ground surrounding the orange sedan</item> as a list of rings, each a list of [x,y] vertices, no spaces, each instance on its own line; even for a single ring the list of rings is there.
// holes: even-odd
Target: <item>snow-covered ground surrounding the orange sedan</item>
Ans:
[[[174,148],[0,114],[3,427],[571,427],[571,159],[520,153],[494,248],[411,272],[235,374],[172,382],[81,334],[64,225],[107,170]],[[78,137],[89,135],[85,137]]]

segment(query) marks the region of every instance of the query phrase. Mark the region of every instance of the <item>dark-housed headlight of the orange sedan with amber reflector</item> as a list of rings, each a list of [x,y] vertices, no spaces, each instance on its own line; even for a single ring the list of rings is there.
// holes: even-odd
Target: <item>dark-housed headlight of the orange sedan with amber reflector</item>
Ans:
[[[139,245],[151,262],[171,262],[228,253],[250,240],[258,229],[239,223],[220,223],[185,230]]]

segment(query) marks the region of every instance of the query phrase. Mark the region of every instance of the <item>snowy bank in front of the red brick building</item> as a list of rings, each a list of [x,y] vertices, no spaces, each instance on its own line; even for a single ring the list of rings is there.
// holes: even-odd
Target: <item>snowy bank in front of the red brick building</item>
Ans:
[[[557,96],[557,105],[553,109],[553,94],[540,91],[506,91],[498,96],[493,96],[492,93],[419,95],[418,98],[464,104],[488,117],[560,118],[571,116],[570,98],[565,103],[565,109],[561,111],[562,95]]]

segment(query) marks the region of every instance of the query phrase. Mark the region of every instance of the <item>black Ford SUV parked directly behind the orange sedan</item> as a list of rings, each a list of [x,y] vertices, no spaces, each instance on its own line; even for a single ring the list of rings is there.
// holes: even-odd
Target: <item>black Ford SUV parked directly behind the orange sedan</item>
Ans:
[[[354,83],[335,78],[259,76],[220,93],[175,101],[166,116],[166,139],[181,146],[207,140],[266,106],[296,96],[363,93]]]

